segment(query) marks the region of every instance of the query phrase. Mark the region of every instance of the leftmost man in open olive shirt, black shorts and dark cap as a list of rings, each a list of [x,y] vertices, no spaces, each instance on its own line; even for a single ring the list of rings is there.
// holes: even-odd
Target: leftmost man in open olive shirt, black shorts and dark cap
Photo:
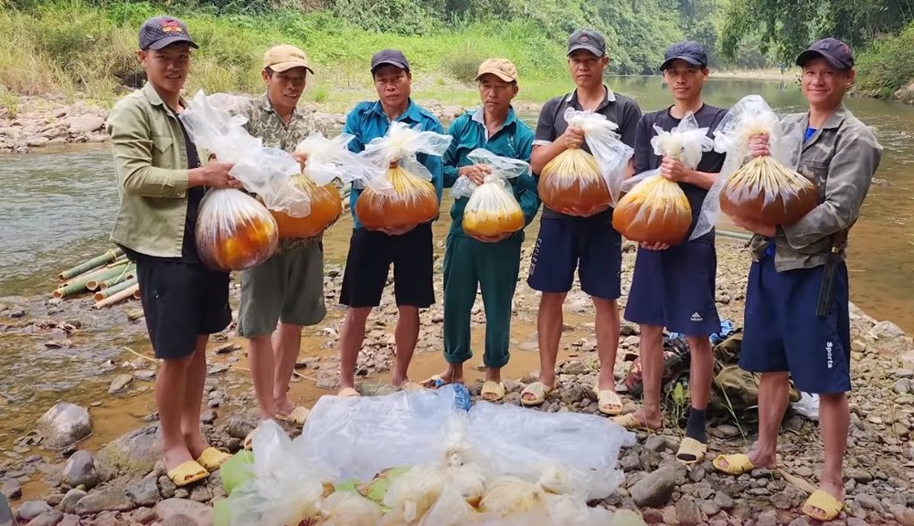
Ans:
[[[162,367],[155,404],[168,477],[177,486],[206,479],[228,455],[200,432],[207,340],[231,321],[228,274],[203,267],[195,228],[204,188],[240,188],[231,164],[200,166],[197,147],[178,119],[181,89],[197,44],[184,22],[150,18],[140,28],[143,89],[112,109],[108,132],[121,207],[112,241],[136,261],[143,313]]]

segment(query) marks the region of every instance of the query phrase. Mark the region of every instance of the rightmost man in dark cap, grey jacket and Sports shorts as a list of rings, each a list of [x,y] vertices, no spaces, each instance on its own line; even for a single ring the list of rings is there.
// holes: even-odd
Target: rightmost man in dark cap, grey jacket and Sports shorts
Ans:
[[[802,512],[832,521],[844,508],[842,463],[850,410],[850,316],[845,264],[847,234],[882,156],[872,130],[845,108],[854,83],[854,55],[844,42],[823,38],[796,60],[802,68],[805,113],[784,119],[805,130],[796,167],[819,188],[819,205],[792,225],[734,217],[752,237],[746,321],[739,366],[760,373],[759,441],[748,455],[721,455],[714,467],[731,475],[774,468],[789,382],[819,395],[824,466]],[[749,153],[767,155],[768,138],[750,139]]]

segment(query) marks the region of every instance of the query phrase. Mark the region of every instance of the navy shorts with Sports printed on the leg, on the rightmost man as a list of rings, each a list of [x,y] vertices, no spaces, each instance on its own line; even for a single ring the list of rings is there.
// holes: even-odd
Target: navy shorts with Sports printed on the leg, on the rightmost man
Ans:
[[[815,310],[824,269],[778,272],[771,257],[752,264],[739,367],[752,373],[789,371],[806,393],[850,391],[847,266],[836,268],[832,301],[820,318]]]

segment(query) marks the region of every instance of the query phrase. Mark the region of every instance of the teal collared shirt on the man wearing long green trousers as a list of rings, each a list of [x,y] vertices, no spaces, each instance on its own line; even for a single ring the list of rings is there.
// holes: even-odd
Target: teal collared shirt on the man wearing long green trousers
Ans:
[[[453,139],[451,147],[444,154],[445,187],[450,188],[457,182],[461,166],[472,164],[466,156],[476,148],[484,148],[502,157],[530,162],[533,131],[523,121],[516,118],[513,108],[508,110],[507,119],[501,129],[491,137],[485,127],[483,108],[467,111],[454,119],[448,129],[448,134]],[[531,175],[520,175],[508,179],[508,182],[524,212],[524,222],[529,225],[539,209],[537,181]],[[463,236],[463,209],[466,208],[467,201],[469,198],[461,197],[456,199],[451,207],[451,233],[454,235]],[[523,234],[518,232],[517,235]]]

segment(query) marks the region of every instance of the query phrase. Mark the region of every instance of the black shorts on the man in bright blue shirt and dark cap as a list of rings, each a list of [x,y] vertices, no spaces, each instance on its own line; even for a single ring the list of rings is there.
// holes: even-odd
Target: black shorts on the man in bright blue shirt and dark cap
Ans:
[[[353,308],[377,307],[393,263],[397,306],[427,309],[435,302],[433,262],[428,223],[402,236],[356,228],[345,258],[340,303]]]

